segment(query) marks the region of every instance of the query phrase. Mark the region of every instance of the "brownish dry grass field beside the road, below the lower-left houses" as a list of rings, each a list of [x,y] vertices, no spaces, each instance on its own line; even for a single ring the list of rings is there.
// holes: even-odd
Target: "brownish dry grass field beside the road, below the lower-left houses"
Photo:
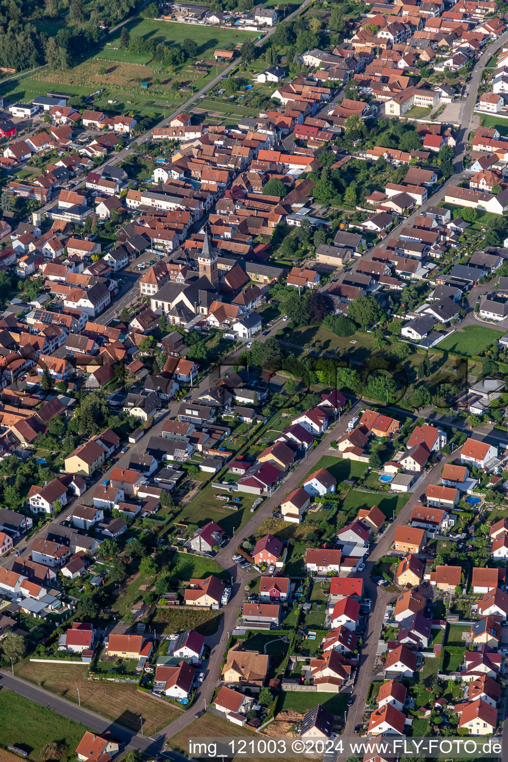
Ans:
[[[170,704],[155,701],[151,696],[139,693],[136,684],[107,683],[83,680],[85,664],[37,664],[36,662],[24,661],[16,666],[19,677],[29,680],[30,683],[42,686],[45,690],[65,696],[69,701],[78,703],[78,691],[81,706],[91,709],[92,712],[107,717],[113,722],[119,722],[126,728],[139,731],[139,716],[143,718],[143,729],[146,735],[155,733],[159,728],[168,725],[177,718],[180,712]],[[2,693],[0,691],[0,715],[2,712]],[[131,710],[130,707],[135,707]],[[23,713],[24,725],[26,712]],[[43,728],[54,726],[54,712],[50,712],[50,719],[42,722],[34,717],[34,728],[41,733]],[[68,721],[65,721],[68,722]],[[81,725],[79,726],[81,728]],[[24,727],[24,732],[26,728]],[[81,731],[81,735],[82,735]],[[65,735],[65,734],[62,734]],[[59,735],[58,738],[61,736]],[[80,736],[81,738],[81,736]],[[48,739],[53,740],[53,738]],[[37,760],[37,757],[35,757]]]

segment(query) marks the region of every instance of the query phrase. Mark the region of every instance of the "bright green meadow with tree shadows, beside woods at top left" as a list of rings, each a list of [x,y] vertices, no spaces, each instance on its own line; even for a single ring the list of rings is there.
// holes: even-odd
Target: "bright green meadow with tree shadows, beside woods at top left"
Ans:
[[[212,58],[216,48],[232,48],[244,40],[255,40],[255,32],[244,32],[236,29],[219,29],[216,27],[201,27],[187,24],[177,24],[171,21],[153,21],[149,18],[136,19],[126,24],[131,37],[143,37],[145,40],[153,40],[155,43],[170,43],[181,45],[190,38],[198,45],[198,58]],[[119,45],[121,30],[114,37],[108,39],[111,45]]]

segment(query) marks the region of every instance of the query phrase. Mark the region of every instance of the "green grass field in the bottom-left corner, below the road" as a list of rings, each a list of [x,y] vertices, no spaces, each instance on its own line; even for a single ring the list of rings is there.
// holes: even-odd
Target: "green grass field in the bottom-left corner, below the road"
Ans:
[[[62,717],[7,688],[0,689],[0,717],[2,746],[17,746],[27,751],[27,759],[34,762],[48,759],[43,748],[53,741],[66,746],[62,762],[75,759],[75,749],[88,730],[85,725]]]

